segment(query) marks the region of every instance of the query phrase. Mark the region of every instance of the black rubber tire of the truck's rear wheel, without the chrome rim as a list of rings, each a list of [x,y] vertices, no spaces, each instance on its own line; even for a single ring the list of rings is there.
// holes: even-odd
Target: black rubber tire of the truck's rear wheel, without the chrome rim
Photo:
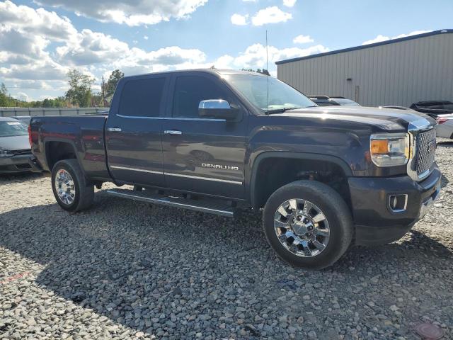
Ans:
[[[55,184],[55,176],[60,169],[66,170],[74,181],[75,197],[72,203],[67,204],[59,198]],[[55,163],[52,169],[52,191],[54,192],[55,199],[60,207],[70,212],[77,212],[86,210],[93,205],[94,200],[94,185],[86,180],[82,173],[79,163],[76,159],[64,159]]]

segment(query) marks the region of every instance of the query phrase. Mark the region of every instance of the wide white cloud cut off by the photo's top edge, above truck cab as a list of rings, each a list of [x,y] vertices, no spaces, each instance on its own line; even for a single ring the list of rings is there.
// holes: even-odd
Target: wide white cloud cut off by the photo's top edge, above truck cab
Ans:
[[[128,26],[154,25],[171,18],[186,18],[207,0],[36,0],[38,4],[63,7],[77,15]]]

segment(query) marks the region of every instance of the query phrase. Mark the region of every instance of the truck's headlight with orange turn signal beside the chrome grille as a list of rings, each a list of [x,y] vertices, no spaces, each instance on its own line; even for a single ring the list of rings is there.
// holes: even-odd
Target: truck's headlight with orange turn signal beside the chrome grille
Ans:
[[[369,154],[377,166],[404,165],[411,157],[408,133],[377,133],[369,138]]]

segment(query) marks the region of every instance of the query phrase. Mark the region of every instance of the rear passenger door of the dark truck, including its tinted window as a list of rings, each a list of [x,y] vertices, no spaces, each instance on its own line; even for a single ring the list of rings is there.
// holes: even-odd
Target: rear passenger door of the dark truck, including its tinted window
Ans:
[[[105,128],[108,167],[117,182],[164,186],[161,118],[167,87],[166,74],[120,82]]]

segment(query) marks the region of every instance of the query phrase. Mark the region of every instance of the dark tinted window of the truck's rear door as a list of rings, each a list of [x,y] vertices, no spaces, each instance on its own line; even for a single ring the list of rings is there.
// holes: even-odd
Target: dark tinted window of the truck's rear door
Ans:
[[[159,117],[166,78],[130,79],[122,88],[120,115]]]

